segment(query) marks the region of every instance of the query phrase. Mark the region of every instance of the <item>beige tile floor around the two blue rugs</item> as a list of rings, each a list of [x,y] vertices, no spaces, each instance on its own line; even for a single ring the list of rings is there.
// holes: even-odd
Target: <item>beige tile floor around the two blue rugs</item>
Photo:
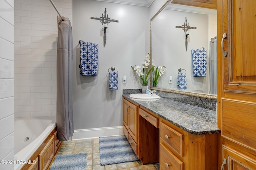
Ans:
[[[141,165],[140,161],[100,165],[99,138],[64,141],[57,155],[87,153],[86,170],[159,170],[159,164]]]

